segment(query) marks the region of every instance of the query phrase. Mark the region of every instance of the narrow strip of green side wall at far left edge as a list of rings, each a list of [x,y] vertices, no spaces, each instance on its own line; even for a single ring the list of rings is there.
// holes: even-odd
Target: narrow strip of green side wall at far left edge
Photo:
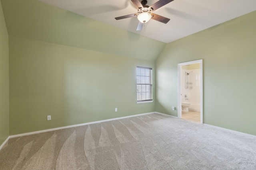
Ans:
[[[9,136],[9,47],[0,2],[0,145]]]

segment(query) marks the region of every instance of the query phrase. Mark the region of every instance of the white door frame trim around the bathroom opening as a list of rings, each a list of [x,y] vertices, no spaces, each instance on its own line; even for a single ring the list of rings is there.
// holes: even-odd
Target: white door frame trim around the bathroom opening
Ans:
[[[200,123],[203,124],[203,60],[189,61],[185,63],[178,63],[178,118],[181,119],[181,66],[188,64],[200,63]]]

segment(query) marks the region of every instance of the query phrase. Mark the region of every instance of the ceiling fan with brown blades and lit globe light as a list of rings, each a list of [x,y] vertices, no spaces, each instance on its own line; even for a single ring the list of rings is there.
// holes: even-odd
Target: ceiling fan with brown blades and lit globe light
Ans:
[[[151,12],[157,10],[158,8],[161,8],[162,6],[172,2],[173,0],[159,0],[158,2],[154,3],[151,6],[146,5],[148,3],[147,0],[142,0],[141,3],[139,0],[131,0],[131,1],[136,6],[136,8],[138,8],[138,13],[116,17],[115,19],[121,20],[124,18],[131,18],[131,17],[137,16],[139,23],[136,31],[141,30],[143,27],[143,24],[148,22],[150,19],[153,19],[162,23],[167,23],[168,21],[170,21],[169,18],[165,18],[157,14],[152,14]]]

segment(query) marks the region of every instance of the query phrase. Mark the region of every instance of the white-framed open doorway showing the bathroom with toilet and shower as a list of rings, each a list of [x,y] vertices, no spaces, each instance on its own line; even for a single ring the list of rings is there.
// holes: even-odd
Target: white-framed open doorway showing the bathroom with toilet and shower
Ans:
[[[203,124],[202,66],[202,59],[178,64],[177,107],[179,119],[198,121],[201,125]]]

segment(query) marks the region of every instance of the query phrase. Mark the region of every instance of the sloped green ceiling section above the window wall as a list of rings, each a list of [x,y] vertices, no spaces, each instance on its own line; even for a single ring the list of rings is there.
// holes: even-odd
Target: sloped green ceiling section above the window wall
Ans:
[[[9,35],[150,61],[166,45],[37,0],[1,2]]]

